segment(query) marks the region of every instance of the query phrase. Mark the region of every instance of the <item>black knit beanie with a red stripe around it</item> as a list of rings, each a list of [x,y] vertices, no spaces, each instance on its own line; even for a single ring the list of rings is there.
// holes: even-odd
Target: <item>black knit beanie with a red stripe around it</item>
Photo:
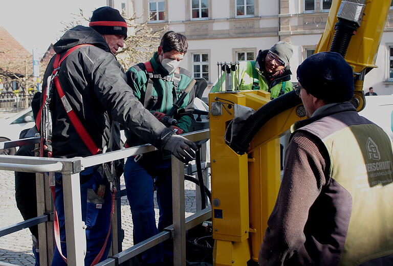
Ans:
[[[119,10],[112,7],[100,7],[94,10],[89,27],[100,34],[123,35],[127,38],[127,23]]]

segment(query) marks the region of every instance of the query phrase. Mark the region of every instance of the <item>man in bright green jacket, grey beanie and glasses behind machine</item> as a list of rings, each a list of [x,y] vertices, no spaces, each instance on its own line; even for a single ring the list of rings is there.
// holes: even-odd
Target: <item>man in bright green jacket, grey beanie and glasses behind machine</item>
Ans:
[[[289,60],[292,47],[279,41],[269,50],[259,50],[255,61],[240,62],[238,74],[232,72],[232,90],[264,90],[272,99],[292,91]],[[237,77],[238,80],[237,81]],[[222,75],[210,92],[225,91],[225,75]]]

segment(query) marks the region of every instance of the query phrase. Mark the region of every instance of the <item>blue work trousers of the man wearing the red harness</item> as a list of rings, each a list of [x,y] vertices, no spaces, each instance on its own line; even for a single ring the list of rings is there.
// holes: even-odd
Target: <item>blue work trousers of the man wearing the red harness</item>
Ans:
[[[100,172],[87,168],[80,173],[81,179],[86,180],[80,185],[82,220],[86,225],[86,256],[84,265],[90,266],[97,254],[101,251],[111,224],[112,197],[107,179]],[[65,243],[64,200],[62,188],[62,175],[56,173],[56,210],[60,228],[60,242],[62,254],[67,257]],[[97,195],[100,185],[104,186],[103,197]],[[103,187],[101,187],[103,188]],[[102,193],[102,192],[101,192]],[[77,240],[78,241],[78,240]],[[111,247],[111,236],[108,239],[100,261],[105,260]],[[67,265],[55,248],[52,266]]]

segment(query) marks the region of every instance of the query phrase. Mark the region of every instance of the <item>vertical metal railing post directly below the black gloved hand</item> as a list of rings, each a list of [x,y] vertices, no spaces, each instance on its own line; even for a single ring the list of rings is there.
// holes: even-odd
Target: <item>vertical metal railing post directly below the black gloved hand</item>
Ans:
[[[184,164],[172,156],[173,265],[186,265]]]

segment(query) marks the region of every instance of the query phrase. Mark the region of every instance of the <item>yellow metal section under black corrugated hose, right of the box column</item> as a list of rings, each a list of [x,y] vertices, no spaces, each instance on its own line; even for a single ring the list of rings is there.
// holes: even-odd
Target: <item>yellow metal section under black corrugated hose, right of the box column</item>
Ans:
[[[254,159],[249,162],[250,227],[256,230],[250,240],[255,261],[280,187],[279,136],[300,119],[296,107],[287,109],[261,127],[250,143],[249,157]]]

